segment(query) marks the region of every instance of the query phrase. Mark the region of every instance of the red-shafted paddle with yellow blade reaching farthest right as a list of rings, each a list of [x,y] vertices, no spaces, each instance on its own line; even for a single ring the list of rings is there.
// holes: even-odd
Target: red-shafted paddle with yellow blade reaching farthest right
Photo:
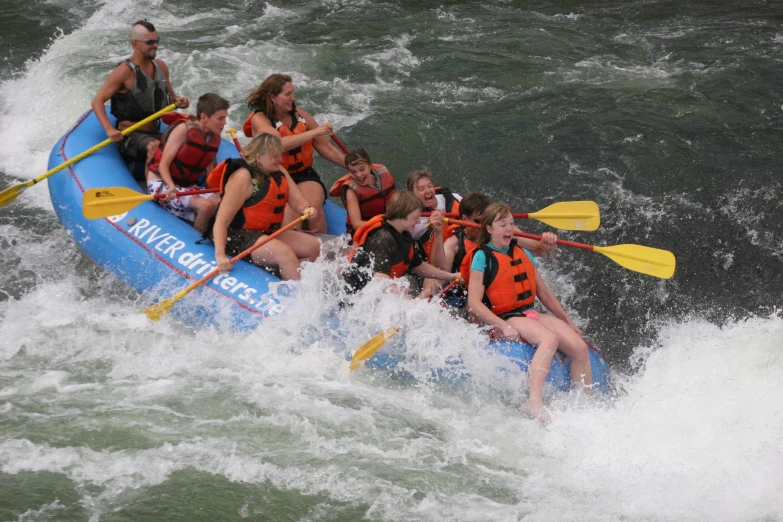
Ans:
[[[472,223],[470,221],[460,221],[458,219],[445,220],[447,223],[454,223],[463,227],[480,228],[481,225]],[[515,236],[527,237],[530,239],[541,240],[541,236],[534,234],[528,234],[526,232],[514,232]],[[660,250],[658,248],[646,247],[642,245],[616,245],[610,247],[598,247],[593,245],[586,245],[584,243],[575,243],[574,241],[565,241],[562,239],[557,240],[558,245],[569,246],[573,248],[581,248],[582,250],[592,250],[603,254],[618,265],[634,272],[650,275],[653,277],[660,277],[661,279],[669,279],[674,275],[674,269],[677,266],[677,260],[674,258],[674,254],[668,250]]]

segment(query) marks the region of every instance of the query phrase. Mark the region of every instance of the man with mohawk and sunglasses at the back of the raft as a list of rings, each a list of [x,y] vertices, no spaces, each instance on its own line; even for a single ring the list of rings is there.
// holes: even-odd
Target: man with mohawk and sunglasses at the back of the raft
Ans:
[[[131,27],[130,36],[133,54],[109,74],[92,100],[92,109],[106,135],[119,144],[125,161],[146,164],[158,147],[160,122],[150,122],[125,137],[122,131],[172,101],[180,109],[186,109],[190,102],[185,97],[177,97],[169,81],[166,63],[155,59],[160,41],[155,26],[140,20]],[[116,125],[112,125],[106,114],[106,102],[110,100],[111,113],[117,118]],[[138,170],[143,179],[143,168]]]

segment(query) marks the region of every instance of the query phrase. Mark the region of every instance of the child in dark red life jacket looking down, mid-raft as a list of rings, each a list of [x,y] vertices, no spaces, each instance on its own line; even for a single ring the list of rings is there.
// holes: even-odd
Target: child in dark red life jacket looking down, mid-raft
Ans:
[[[386,212],[386,205],[394,194],[394,178],[389,169],[373,163],[364,149],[351,149],[345,155],[348,174],[338,179],[329,189],[329,195],[340,198],[348,216],[345,231],[353,237],[370,218]]]

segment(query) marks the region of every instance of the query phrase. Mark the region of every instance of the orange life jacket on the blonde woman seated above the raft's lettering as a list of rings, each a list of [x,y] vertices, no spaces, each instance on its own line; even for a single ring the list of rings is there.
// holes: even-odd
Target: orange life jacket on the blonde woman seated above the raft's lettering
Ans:
[[[264,176],[243,159],[228,159],[222,161],[210,174],[210,178],[214,175],[219,180],[221,198],[228,179],[241,168],[249,170],[253,176],[253,195],[242,204],[241,211],[236,213],[229,228],[274,232],[283,222],[283,211],[288,203],[287,178],[280,171]],[[258,181],[258,178],[263,179]]]

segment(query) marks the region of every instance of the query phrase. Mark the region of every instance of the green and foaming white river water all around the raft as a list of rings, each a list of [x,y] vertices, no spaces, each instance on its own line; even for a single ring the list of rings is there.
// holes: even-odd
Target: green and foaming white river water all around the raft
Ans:
[[[730,4],[0,5],[0,187],[47,170],[147,18],[177,93],[221,94],[234,127],[286,72],[398,186],[426,165],[520,212],[594,200],[601,229],[560,237],[678,260],[667,281],[544,261],[615,390],[553,396],[543,427],[433,306],[371,295],[333,329],[328,262],[256,332],[152,324],[33,187],[0,209],[0,518],[783,520],[783,6]],[[394,321],[422,358],[475,359],[473,384],[349,374]]]

